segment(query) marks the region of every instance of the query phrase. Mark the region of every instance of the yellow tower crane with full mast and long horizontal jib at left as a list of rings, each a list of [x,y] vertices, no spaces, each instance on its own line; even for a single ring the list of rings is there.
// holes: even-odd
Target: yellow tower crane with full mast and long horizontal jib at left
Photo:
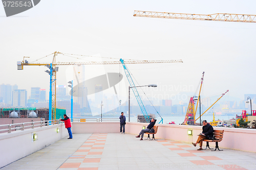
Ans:
[[[52,66],[51,70],[52,70],[52,83],[51,83],[51,87],[52,88],[52,120],[56,119],[56,73],[58,71],[58,67],[56,66],[67,66],[67,65],[116,65],[116,64],[121,64],[120,61],[100,61],[100,62],[94,62],[94,61],[90,61],[90,62],[56,62],[56,55],[58,54],[66,54],[66,53],[60,53],[55,51],[53,56],[53,60],[52,63],[29,63],[27,60],[23,61],[18,61],[17,62],[17,67],[18,70],[23,70],[24,66],[47,66],[50,67],[50,65]],[[52,55],[50,54],[50,55]],[[73,55],[73,54],[70,54]],[[49,56],[49,55],[48,55]],[[29,57],[28,57],[29,58]],[[131,63],[168,63],[168,62],[183,62],[181,59],[178,60],[129,60],[129,61],[124,61],[125,64],[131,64]],[[50,72],[49,72],[50,73]],[[50,119],[50,118],[49,118]]]

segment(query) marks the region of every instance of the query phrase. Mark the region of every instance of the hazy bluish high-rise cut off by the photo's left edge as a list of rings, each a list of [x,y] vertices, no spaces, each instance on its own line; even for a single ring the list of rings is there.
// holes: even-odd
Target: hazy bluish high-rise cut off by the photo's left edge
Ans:
[[[6,106],[12,104],[12,86],[10,84],[0,85],[0,100],[5,103]]]

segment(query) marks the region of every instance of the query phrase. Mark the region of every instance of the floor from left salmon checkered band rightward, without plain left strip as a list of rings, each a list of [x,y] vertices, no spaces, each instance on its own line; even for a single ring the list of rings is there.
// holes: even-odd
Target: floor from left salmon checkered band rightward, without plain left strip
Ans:
[[[255,153],[233,150],[197,151],[198,147],[189,143],[170,140],[139,141],[134,137],[128,134],[125,137],[122,134],[93,134],[59,169],[256,169],[252,163],[256,160]],[[118,145],[121,146],[120,149]],[[250,155],[248,160],[252,164],[241,162],[241,159],[236,161],[223,157],[234,158],[238,153]],[[74,157],[77,157],[76,161],[73,160]]]

